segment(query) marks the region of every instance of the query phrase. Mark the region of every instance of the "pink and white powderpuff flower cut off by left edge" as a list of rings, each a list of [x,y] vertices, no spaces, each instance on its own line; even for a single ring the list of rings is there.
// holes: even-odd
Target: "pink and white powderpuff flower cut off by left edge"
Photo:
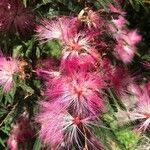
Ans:
[[[13,75],[18,72],[18,62],[12,58],[0,56],[0,85],[5,92],[13,85]]]

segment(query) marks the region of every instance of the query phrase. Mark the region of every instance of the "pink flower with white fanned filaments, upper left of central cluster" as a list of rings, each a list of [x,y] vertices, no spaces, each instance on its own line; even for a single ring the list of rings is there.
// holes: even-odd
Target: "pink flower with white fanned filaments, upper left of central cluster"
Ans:
[[[40,41],[59,39],[66,41],[77,32],[78,20],[73,17],[61,17],[53,20],[42,20],[37,26],[37,37]]]

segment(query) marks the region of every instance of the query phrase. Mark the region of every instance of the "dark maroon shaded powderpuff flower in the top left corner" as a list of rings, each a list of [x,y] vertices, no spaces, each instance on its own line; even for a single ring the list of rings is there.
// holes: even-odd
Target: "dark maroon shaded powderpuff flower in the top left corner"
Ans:
[[[25,8],[21,0],[2,0],[0,2],[0,32],[16,31],[22,36],[33,32],[34,15]]]

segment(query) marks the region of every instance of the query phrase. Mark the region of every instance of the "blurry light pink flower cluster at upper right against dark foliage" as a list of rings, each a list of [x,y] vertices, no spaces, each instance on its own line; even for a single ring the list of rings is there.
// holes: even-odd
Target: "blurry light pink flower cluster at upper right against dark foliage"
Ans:
[[[126,28],[125,13],[120,8],[115,9],[112,5],[110,8],[112,12],[119,13],[117,18],[112,17],[112,23],[109,25],[112,36],[116,40],[114,53],[124,63],[130,63],[135,55],[136,45],[141,40],[141,36],[137,33],[137,30],[130,31]]]

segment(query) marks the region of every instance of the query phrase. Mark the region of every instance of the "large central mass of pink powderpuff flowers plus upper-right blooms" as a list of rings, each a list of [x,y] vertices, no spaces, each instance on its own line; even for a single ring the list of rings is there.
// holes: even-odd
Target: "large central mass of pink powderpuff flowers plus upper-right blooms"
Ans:
[[[36,28],[41,43],[55,39],[62,48],[59,65],[50,58],[36,70],[46,82],[47,97],[40,102],[36,119],[41,124],[39,135],[50,148],[103,149],[92,132],[104,108],[103,89],[111,86],[121,95],[133,80],[128,73],[122,78],[126,70],[114,68],[103,55],[115,44],[113,53],[129,63],[141,39],[136,30],[126,28],[121,8],[110,5],[110,12],[119,14],[117,19],[111,16],[111,24],[98,12],[85,8],[78,17],[42,19]],[[108,28],[115,41],[112,47],[103,38],[108,36]]]

